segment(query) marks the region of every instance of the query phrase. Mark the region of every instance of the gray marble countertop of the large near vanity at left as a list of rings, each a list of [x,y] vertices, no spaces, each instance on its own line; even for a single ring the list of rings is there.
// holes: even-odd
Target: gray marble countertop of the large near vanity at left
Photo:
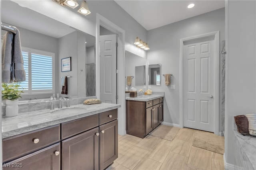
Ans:
[[[15,117],[2,117],[2,139],[34,131],[44,127],[57,125],[82,117],[95,115],[104,111],[117,109],[120,104],[101,103],[94,105],[78,104],[61,109],[46,109],[20,113]]]

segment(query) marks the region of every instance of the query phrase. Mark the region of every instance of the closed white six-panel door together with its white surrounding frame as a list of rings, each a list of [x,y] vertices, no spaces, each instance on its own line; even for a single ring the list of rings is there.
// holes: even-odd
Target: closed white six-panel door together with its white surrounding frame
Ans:
[[[180,126],[219,135],[219,31],[180,39]]]

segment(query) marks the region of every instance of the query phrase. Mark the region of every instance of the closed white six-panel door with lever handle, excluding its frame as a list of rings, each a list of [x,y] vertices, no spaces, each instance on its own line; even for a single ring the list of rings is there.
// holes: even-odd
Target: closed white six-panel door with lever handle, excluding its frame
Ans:
[[[214,37],[184,43],[184,127],[214,132]]]

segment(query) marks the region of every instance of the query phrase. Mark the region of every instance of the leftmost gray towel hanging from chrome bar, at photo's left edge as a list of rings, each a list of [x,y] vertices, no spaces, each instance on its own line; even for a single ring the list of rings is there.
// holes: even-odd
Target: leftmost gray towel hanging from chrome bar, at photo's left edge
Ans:
[[[11,65],[12,65],[12,38],[13,34],[6,32],[2,44],[2,83],[12,82]]]

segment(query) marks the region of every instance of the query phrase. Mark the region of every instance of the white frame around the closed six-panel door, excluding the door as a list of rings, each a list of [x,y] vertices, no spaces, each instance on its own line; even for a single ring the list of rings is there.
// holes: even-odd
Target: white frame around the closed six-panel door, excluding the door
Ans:
[[[215,44],[215,62],[214,66],[216,68],[216,71],[214,72],[214,78],[216,81],[216,88],[215,88],[215,93],[214,93],[214,102],[216,104],[214,108],[214,134],[215,135],[220,135],[219,134],[219,68],[220,68],[220,61],[219,61],[219,48],[220,48],[220,31],[214,31],[211,33],[205,33],[201,35],[195,35],[192,37],[186,37],[180,39],[180,128],[184,127],[184,56],[183,56],[183,50],[184,50],[184,43],[188,41],[193,41],[197,39],[202,39],[202,38],[208,38],[208,37],[214,37],[214,44]]]

